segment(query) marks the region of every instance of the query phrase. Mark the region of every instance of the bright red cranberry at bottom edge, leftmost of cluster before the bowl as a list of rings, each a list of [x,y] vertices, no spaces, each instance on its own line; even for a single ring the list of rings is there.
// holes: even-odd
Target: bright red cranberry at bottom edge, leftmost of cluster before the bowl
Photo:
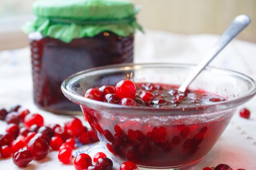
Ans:
[[[92,165],[92,158],[85,153],[79,154],[74,160],[76,170],[86,170],[90,165]]]

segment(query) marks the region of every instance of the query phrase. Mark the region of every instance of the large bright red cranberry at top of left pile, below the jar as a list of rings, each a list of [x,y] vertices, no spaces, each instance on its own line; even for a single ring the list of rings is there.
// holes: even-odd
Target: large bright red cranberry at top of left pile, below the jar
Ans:
[[[44,124],[43,117],[39,114],[31,114],[29,113],[24,119],[24,126],[29,129],[30,126],[36,124],[37,126],[41,127]]]

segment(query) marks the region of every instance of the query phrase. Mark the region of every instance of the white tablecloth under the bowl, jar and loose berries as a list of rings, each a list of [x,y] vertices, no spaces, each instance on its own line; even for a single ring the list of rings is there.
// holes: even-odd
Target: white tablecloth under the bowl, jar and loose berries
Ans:
[[[149,31],[145,34],[135,35],[135,63],[193,63],[197,64],[204,54],[218,40],[218,35],[179,35],[162,31]],[[31,113],[40,113],[45,119],[45,124],[63,122],[68,116],[54,115],[38,109],[33,103],[32,77],[29,48],[15,49],[0,52],[0,107],[9,109],[19,104],[28,108]],[[256,79],[256,44],[246,41],[232,41],[210,65],[242,72]],[[226,163],[234,170],[244,168],[256,170],[256,98],[253,98],[238,111],[247,107],[251,111],[249,119],[240,118],[238,111],[222,134],[216,145],[207,156],[191,170],[202,170],[206,166],[217,166]],[[89,127],[82,116],[78,116]],[[0,120],[0,133],[3,133],[7,124]],[[106,149],[100,144],[92,144],[76,148],[73,155],[95,153]],[[32,161],[24,170],[72,170],[72,162],[63,165],[58,162],[58,152],[51,151],[40,161]],[[108,155],[108,154],[107,154]],[[108,155],[109,156],[109,155]],[[38,163],[40,162],[40,163]],[[0,158],[0,170],[18,170],[12,159]],[[119,164],[115,162],[113,169],[118,170]]]

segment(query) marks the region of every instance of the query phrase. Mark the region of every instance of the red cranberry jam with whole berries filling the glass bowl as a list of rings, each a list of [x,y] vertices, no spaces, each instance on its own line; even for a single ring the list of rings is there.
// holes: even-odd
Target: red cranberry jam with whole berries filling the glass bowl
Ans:
[[[141,115],[139,110],[138,113],[127,114],[115,109],[105,111],[86,106],[82,106],[82,109],[113,157],[120,161],[133,161],[139,166],[178,168],[200,161],[217,142],[236,110],[231,108],[204,113],[202,109],[200,116],[157,116],[159,109],[195,109],[214,105],[225,98],[203,90],[187,90],[182,94],[177,91],[176,85],[135,83],[134,86],[135,93],[130,82],[117,86],[105,85],[88,90],[85,97],[94,100],[97,97],[103,102],[121,103],[133,108],[153,107],[154,116]],[[127,92],[129,89],[130,93]],[[118,97],[120,95],[121,98]],[[126,98],[126,95],[132,98]]]

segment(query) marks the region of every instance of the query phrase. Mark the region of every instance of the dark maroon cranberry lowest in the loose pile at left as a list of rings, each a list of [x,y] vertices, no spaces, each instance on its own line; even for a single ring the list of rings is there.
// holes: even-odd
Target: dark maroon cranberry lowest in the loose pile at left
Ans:
[[[12,157],[13,163],[18,167],[26,167],[33,160],[30,150],[19,150]]]

